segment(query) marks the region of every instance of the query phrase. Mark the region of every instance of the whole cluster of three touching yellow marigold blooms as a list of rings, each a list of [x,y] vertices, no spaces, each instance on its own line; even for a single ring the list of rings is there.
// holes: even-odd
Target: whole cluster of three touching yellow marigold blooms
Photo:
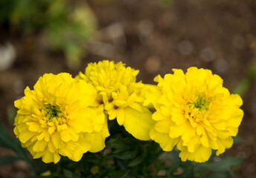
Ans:
[[[138,70],[107,60],[89,63],[75,79],[45,74],[14,102],[14,133],[43,162],[79,161],[103,150],[108,119],[115,118],[136,139],[153,139],[164,151],[176,146],[182,161],[205,162],[212,149],[222,154],[237,135],[242,99],[211,70],[173,72],[156,76],[157,86],[136,82]]]

